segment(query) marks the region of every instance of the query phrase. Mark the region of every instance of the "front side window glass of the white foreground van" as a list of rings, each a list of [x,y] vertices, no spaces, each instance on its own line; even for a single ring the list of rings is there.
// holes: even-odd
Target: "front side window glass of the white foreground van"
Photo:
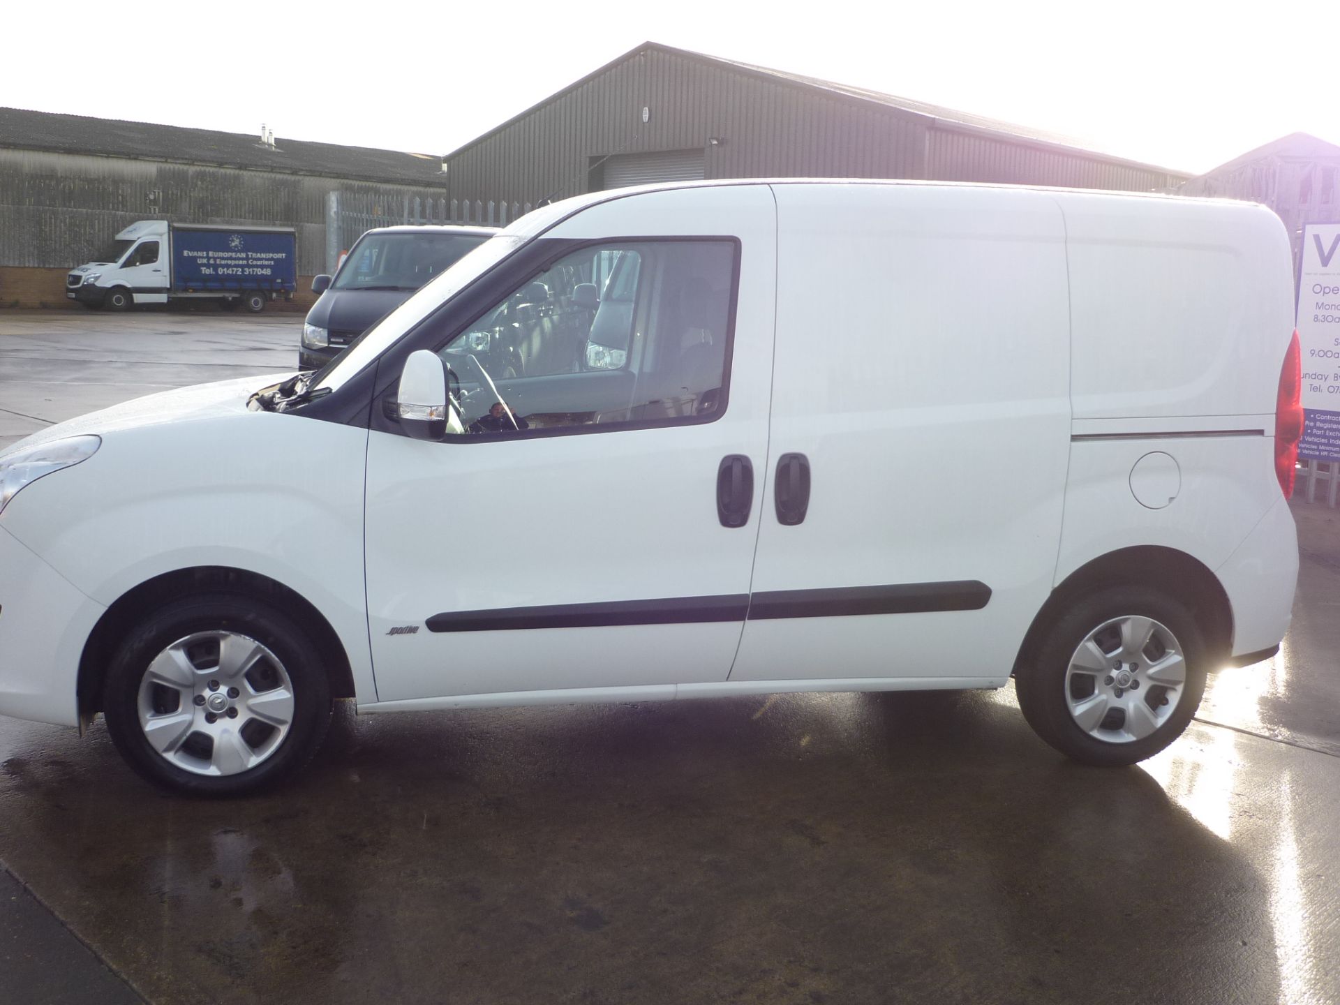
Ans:
[[[440,352],[470,436],[706,422],[725,409],[737,245],[583,248]]]

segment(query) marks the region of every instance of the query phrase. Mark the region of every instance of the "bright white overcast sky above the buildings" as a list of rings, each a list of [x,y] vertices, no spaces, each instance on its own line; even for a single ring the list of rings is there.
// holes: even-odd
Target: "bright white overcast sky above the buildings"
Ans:
[[[0,106],[433,154],[649,40],[1190,172],[1340,143],[1336,0],[11,4],[4,35]]]

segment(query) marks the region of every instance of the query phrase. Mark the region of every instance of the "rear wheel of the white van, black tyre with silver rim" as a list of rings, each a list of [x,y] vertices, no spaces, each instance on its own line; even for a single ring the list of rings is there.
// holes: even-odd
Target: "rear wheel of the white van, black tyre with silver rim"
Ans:
[[[1061,753],[1118,766],[1156,754],[1205,694],[1205,638],[1190,611],[1143,587],[1091,594],[1061,614],[1016,691],[1024,717]]]

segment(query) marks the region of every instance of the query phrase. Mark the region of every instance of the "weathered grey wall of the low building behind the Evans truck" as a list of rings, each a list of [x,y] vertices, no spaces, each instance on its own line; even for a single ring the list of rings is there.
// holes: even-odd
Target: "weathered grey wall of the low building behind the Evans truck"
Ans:
[[[292,226],[297,271],[326,271],[327,194],[394,208],[442,189],[118,157],[0,150],[0,265],[67,268],[87,261],[135,220]],[[150,201],[150,193],[161,198]],[[153,209],[157,206],[157,209]]]

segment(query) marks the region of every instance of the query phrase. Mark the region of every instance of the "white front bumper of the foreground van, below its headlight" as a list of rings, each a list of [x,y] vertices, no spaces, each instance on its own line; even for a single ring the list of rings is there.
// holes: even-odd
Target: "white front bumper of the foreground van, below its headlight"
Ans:
[[[0,527],[0,716],[79,725],[79,658],[105,610]]]

